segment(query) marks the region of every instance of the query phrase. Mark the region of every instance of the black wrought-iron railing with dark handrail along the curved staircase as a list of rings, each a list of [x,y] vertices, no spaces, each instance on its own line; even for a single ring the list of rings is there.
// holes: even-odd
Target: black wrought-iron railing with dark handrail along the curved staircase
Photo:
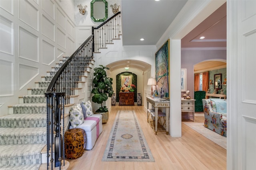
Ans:
[[[106,48],[106,44],[113,43],[113,40],[119,39],[120,35],[121,12],[118,12],[98,27],[92,27],[92,35],[80,45],[52,78],[45,93],[48,122],[47,169],[49,158],[52,169],[54,166],[61,169],[62,160],[65,162],[64,137],[60,133],[61,117],[63,119],[62,127],[64,127],[64,106],[70,104],[70,96],[74,95],[81,76],[84,75],[87,66],[93,60],[93,53],[98,53],[100,48]],[[62,130],[64,135],[64,128]],[[54,166],[53,162],[55,162]]]

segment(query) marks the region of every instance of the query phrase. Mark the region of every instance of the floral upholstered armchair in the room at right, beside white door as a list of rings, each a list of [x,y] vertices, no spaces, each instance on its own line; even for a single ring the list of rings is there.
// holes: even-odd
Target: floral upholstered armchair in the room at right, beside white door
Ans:
[[[227,103],[222,99],[202,99],[204,108],[204,127],[226,137]]]

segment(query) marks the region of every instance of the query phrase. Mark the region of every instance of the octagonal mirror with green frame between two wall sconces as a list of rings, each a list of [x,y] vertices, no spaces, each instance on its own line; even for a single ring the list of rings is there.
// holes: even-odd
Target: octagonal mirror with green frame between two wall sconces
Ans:
[[[91,18],[94,22],[104,22],[108,18],[108,2],[106,0],[92,0]]]

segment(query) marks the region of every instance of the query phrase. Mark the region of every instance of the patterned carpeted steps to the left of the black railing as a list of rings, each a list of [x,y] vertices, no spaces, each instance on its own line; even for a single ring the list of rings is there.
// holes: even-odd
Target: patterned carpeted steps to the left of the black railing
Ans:
[[[0,117],[0,169],[38,170],[41,150],[46,145],[46,92],[56,71],[68,57],[57,64],[44,81],[28,89],[20,104],[13,105],[13,114]]]

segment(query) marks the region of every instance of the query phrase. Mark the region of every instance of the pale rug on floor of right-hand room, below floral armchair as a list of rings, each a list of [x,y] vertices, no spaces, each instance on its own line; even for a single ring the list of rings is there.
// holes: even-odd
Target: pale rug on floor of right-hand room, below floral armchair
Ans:
[[[220,147],[227,149],[227,138],[219,135],[218,133],[204,127],[204,123],[194,123],[194,122],[182,122],[194,131],[200,133],[204,137],[210,139]]]

